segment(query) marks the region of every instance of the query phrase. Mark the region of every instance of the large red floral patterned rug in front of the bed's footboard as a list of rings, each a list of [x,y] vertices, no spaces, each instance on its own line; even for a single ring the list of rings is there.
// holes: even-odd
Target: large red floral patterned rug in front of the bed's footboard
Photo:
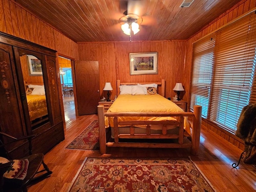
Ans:
[[[69,192],[214,192],[190,158],[86,158]]]

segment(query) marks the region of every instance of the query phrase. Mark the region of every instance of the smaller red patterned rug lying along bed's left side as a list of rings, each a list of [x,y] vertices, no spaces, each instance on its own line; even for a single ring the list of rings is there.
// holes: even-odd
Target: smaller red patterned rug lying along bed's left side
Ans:
[[[68,144],[66,148],[78,150],[100,150],[98,129],[98,120],[94,120],[80,135]]]

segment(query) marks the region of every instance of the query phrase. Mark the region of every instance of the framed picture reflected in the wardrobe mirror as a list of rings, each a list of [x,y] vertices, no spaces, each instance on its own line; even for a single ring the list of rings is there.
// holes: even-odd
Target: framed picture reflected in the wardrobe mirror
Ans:
[[[42,64],[41,60],[35,56],[28,55],[28,72],[30,76],[42,76]]]

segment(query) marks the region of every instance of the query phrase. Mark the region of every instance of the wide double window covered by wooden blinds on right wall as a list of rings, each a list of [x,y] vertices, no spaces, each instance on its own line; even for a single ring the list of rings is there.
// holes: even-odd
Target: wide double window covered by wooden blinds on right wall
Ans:
[[[255,103],[256,14],[254,12],[193,44],[190,110],[232,132],[242,108]]]

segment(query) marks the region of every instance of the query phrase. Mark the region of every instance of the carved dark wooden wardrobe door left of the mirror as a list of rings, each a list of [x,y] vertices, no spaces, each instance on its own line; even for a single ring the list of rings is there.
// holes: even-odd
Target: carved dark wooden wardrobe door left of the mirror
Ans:
[[[27,135],[18,90],[12,46],[0,43],[0,131],[14,137]],[[4,137],[6,140],[6,137]]]

